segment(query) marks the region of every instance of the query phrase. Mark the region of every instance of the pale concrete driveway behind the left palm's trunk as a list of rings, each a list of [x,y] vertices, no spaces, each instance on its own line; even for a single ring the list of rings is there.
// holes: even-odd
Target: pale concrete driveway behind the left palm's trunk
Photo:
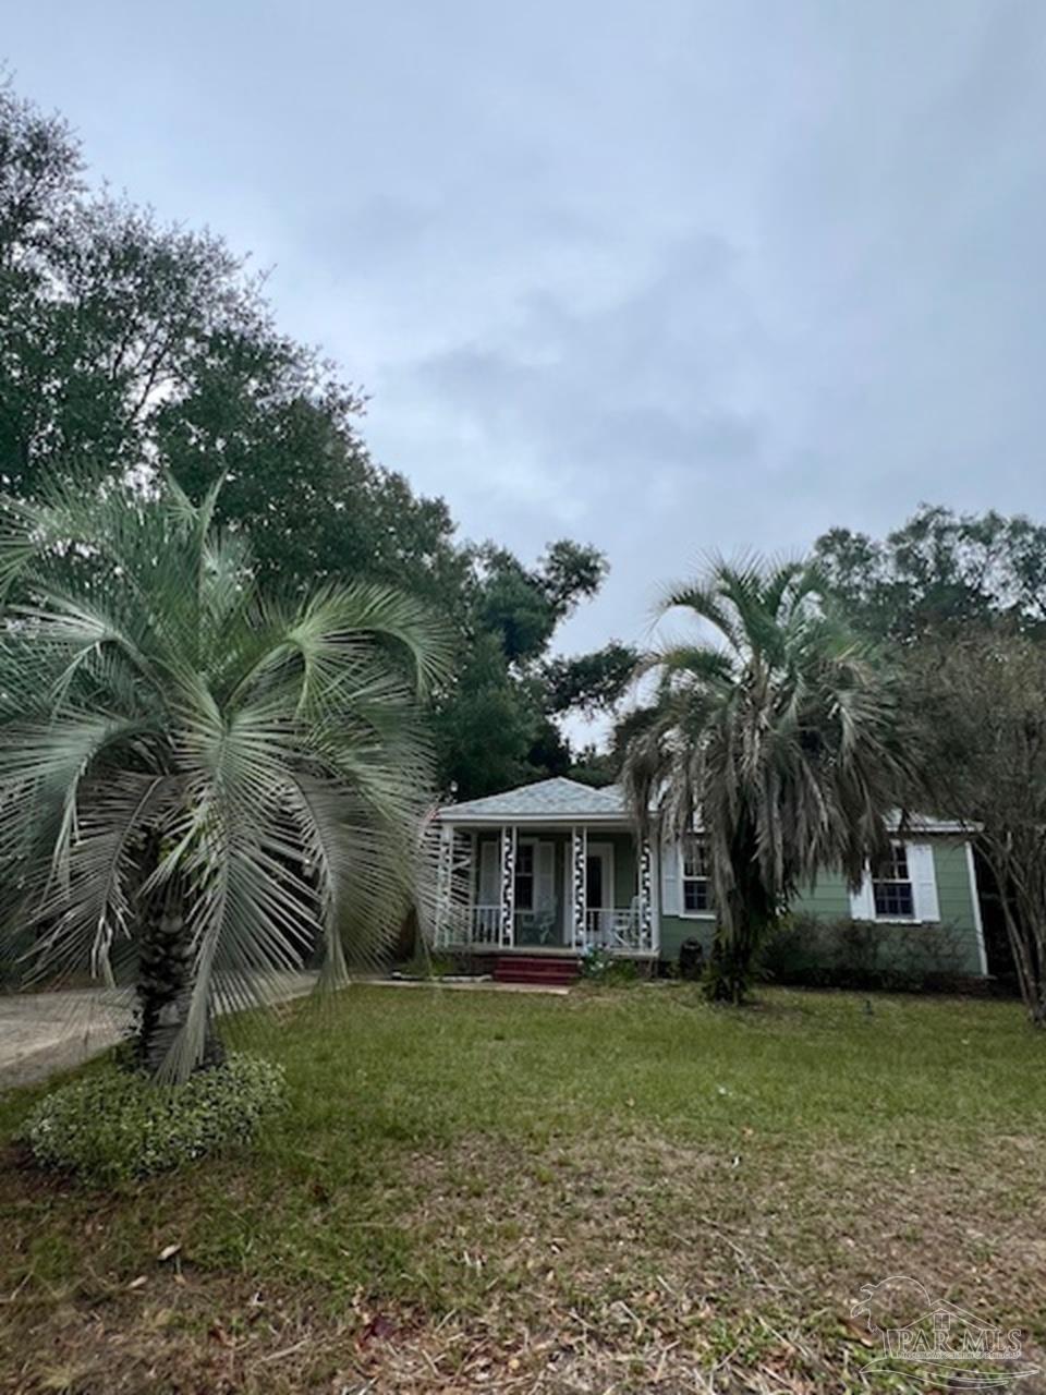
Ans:
[[[315,978],[278,974],[266,996],[273,1003],[301,997]],[[132,1006],[127,989],[0,993],[0,1091],[32,1085],[116,1045],[131,1021]]]

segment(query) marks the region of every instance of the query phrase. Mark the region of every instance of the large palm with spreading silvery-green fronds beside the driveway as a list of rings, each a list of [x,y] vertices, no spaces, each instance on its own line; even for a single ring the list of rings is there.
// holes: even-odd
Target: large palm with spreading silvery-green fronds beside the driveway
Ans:
[[[410,894],[439,628],[411,598],[264,597],[166,477],[0,501],[0,912],[35,972],[138,993],[138,1060],[216,1052],[216,993],[385,942]],[[15,604],[15,600],[18,601]]]

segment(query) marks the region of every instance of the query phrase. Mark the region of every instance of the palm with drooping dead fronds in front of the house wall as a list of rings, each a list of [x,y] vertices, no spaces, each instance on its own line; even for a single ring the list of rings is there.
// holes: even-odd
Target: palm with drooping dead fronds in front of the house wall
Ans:
[[[736,1003],[796,890],[830,866],[856,886],[886,848],[902,742],[881,665],[809,566],[715,561],[660,617],[676,608],[714,642],[643,661],[655,700],[623,778],[642,827],[667,840],[700,827],[717,914],[707,989]]]

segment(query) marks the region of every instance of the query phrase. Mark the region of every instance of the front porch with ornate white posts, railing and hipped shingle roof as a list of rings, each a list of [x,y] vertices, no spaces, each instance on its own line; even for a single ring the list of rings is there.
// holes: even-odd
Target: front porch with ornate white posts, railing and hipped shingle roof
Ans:
[[[437,947],[657,954],[651,850],[633,837],[616,791],[541,781],[448,806],[439,824]]]

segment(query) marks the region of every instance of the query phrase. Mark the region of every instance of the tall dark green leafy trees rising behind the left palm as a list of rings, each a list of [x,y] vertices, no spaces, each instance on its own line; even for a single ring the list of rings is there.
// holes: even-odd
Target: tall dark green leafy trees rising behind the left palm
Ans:
[[[442,499],[371,460],[363,393],[279,332],[261,279],[222,239],[86,193],[64,123],[3,91],[0,160],[4,487],[35,497],[56,472],[103,463],[119,477],[142,460],[197,504],[225,481],[215,519],[250,531],[266,587],[365,579],[441,614],[455,650],[430,693],[444,788],[470,797],[565,770],[548,720],[563,695],[549,698],[541,660],[598,590],[602,555],[558,540],[526,568],[456,543]]]

